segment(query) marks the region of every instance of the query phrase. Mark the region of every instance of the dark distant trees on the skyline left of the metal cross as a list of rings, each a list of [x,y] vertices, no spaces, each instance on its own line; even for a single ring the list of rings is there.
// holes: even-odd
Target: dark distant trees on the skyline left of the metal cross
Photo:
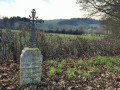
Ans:
[[[40,23],[42,20],[37,20]],[[30,19],[26,17],[3,17],[0,19],[0,28],[1,29],[29,29],[30,28]]]

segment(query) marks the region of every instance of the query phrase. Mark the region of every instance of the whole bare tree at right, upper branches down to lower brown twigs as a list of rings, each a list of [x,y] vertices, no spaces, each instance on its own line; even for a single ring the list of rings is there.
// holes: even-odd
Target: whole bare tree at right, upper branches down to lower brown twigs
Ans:
[[[103,24],[111,35],[120,35],[120,0],[77,0],[77,3],[91,15],[102,14]]]

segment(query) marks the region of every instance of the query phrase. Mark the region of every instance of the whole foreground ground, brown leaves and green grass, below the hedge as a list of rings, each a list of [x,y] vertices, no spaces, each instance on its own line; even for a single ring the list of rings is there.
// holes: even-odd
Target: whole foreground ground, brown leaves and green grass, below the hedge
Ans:
[[[19,61],[0,61],[1,90],[29,90],[19,85]],[[43,61],[38,90],[119,90],[120,56]]]

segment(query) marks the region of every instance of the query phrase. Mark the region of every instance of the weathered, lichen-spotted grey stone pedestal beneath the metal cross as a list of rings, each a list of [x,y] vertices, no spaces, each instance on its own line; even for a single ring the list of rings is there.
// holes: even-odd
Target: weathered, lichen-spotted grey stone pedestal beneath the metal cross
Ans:
[[[38,48],[25,48],[20,56],[20,85],[41,82],[43,56]]]

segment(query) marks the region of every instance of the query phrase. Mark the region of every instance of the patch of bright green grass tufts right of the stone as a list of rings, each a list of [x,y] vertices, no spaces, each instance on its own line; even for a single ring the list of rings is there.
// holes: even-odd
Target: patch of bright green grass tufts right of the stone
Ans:
[[[82,59],[77,61],[74,61],[74,59],[69,59],[67,62],[66,61],[67,60],[64,59],[61,62],[55,63],[55,61],[49,60],[49,65],[53,65],[54,67],[51,66],[50,70],[48,71],[48,76],[53,76],[56,72],[61,74],[63,72],[68,77],[68,79],[74,79],[77,77],[77,75],[80,75],[86,79],[91,79],[93,75],[105,72],[101,69],[102,67],[108,72],[120,74],[119,58],[98,56],[88,59],[87,61]],[[72,63],[74,67],[73,65],[72,67],[68,66],[68,63]],[[79,66],[82,66],[82,68]]]

